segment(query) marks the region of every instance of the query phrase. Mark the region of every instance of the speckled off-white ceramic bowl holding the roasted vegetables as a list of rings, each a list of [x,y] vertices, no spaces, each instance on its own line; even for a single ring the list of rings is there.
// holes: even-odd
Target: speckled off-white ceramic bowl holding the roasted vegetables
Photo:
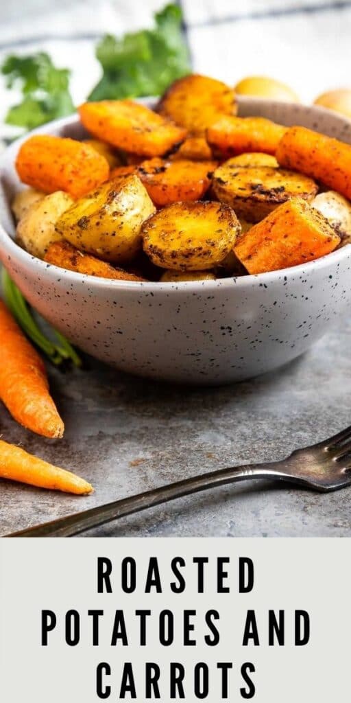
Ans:
[[[244,98],[239,110],[351,143],[351,122],[323,108]],[[77,117],[39,131],[84,134]],[[0,160],[1,261],[44,318],[102,361],[155,379],[229,383],[294,359],[350,309],[351,245],[284,271],[190,283],[109,281],[49,266],[13,242],[19,144]]]

